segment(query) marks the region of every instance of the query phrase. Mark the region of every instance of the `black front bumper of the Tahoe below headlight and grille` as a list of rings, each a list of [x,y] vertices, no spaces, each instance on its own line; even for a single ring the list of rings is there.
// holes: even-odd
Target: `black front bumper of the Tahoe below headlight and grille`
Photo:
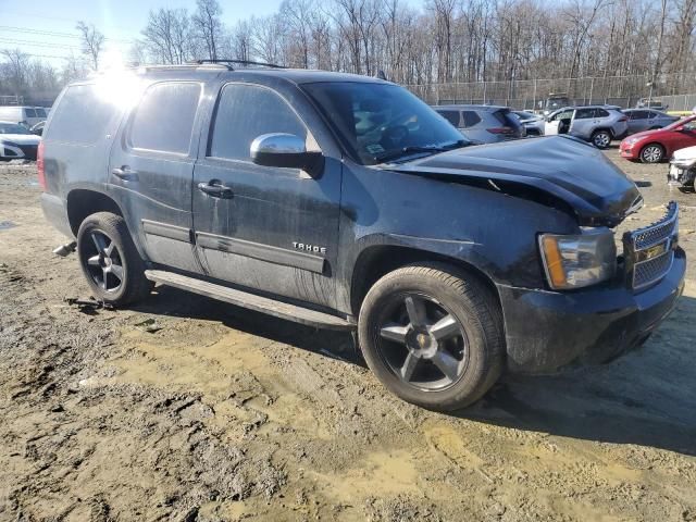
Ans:
[[[634,294],[623,286],[556,293],[498,285],[508,369],[550,373],[571,363],[600,363],[641,345],[684,289],[686,258],[678,249],[667,275]]]

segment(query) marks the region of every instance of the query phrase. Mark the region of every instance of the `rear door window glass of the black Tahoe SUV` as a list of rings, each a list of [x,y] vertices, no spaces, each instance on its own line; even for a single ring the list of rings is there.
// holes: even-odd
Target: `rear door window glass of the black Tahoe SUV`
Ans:
[[[190,148],[200,85],[154,84],[145,91],[130,123],[134,149],[186,154]]]

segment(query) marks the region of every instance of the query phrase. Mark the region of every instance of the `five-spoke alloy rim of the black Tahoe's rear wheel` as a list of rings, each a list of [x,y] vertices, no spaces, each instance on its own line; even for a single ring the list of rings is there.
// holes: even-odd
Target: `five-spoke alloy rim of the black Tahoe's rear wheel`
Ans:
[[[119,291],[125,275],[115,241],[101,231],[89,233],[91,241],[85,239],[85,265],[92,281],[104,291]]]

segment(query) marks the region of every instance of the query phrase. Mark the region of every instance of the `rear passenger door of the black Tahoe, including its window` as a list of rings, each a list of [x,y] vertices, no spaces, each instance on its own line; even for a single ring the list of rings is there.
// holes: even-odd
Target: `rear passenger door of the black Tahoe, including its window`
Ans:
[[[192,136],[201,91],[197,82],[150,85],[116,137],[108,176],[148,259],[196,273],[201,269],[192,246]]]

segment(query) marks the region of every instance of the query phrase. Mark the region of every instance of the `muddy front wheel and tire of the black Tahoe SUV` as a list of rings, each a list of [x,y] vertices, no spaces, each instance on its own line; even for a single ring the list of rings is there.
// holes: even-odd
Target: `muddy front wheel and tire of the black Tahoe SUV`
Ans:
[[[362,302],[358,335],[377,378],[424,408],[464,408],[502,372],[497,297],[447,264],[409,265],[377,281]]]

